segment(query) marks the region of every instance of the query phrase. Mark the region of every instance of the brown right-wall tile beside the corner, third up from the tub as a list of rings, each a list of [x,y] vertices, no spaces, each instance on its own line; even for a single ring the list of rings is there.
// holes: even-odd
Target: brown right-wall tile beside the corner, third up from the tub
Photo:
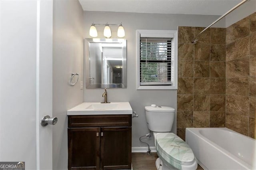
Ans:
[[[238,77],[238,78],[226,79],[226,94],[248,96],[249,78]]]

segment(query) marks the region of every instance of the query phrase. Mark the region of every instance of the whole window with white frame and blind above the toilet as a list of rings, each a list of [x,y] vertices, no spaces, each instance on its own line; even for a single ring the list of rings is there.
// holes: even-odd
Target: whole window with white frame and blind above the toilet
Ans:
[[[177,31],[137,30],[137,89],[177,89]]]

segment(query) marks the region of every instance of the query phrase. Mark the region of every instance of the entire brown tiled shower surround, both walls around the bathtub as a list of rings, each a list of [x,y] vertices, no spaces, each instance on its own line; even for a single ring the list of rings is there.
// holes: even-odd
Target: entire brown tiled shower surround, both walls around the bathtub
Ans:
[[[256,13],[228,28],[178,28],[177,134],[227,127],[256,138]]]

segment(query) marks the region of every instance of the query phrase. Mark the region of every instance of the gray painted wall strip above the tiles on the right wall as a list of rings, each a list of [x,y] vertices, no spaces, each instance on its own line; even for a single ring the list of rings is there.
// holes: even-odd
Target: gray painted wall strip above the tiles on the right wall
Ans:
[[[226,28],[254,12],[256,12],[256,0],[246,1],[244,4],[236,8],[234,11],[230,12],[230,14],[225,17]]]

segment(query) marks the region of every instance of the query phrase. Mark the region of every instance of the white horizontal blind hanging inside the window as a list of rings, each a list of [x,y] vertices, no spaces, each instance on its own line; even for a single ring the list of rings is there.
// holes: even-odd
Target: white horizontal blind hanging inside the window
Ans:
[[[140,85],[172,85],[172,38],[140,37]]]

